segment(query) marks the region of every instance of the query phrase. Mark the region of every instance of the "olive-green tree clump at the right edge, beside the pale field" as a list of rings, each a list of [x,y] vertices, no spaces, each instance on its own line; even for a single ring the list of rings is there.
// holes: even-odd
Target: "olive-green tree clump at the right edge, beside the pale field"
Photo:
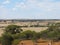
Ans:
[[[50,40],[60,40],[60,23],[52,23],[47,30],[41,32],[41,37]]]

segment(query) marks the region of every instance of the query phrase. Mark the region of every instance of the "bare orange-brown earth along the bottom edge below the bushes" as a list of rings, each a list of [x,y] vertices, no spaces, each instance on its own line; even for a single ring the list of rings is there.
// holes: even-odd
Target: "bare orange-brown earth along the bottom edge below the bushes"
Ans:
[[[32,40],[24,40],[21,41],[18,45],[48,45],[49,41],[40,41],[37,43],[34,43]],[[53,42],[52,45],[60,45],[59,42]]]

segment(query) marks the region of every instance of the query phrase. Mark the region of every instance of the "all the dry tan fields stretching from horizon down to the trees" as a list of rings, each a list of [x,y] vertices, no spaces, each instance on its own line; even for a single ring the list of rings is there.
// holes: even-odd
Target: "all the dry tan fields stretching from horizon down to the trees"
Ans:
[[[19,26],[27,26],[27,27],[22,27],[23,31],[26,30],[31,30],[31,31],[36,31],[40,32],[43,30],[46,30],[48,27],[30,27],[31,25],[42,25],[46,26],[48,23],[57,23],[60,22],[60,20],[1,20],[0,21],[0,36],[3,33],[3,29],[8,25],[14,24],[14,25],[19,25]]]

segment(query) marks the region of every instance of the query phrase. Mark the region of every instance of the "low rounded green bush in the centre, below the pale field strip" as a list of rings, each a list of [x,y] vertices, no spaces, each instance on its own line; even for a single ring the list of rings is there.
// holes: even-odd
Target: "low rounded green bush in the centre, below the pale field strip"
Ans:
[[[35,31],[27,30],[27,31],[24,31],[24,32],[20,33],[20,38],[21,39],[32,39],[32,40],[35,40],[35,39],[39,39],[40,38],[40,34],[35,32]]]

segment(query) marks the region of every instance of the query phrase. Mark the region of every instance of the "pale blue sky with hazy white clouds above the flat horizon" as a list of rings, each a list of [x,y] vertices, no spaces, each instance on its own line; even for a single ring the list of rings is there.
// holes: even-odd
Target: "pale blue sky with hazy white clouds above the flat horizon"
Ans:
[[[0,19],[60,19],[60,0],[0,0]]]

